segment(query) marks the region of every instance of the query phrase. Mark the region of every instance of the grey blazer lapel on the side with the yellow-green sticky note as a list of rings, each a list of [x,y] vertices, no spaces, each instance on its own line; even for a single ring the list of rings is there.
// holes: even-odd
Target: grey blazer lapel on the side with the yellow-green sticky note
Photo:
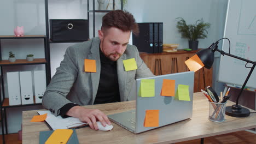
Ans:
[[[126,71],[124,69],[123,60],[126,59],[126,54],[123,54],[117,61],[118,85],[120,92],[120,100],[125,101],[125,86],[126,86]]]

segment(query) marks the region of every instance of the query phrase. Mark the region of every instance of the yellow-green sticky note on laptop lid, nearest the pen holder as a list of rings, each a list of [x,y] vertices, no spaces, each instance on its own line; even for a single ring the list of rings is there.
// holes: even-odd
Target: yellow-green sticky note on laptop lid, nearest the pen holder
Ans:
[[[188,85],[178,85],[175,98],[177,100],[190,101],[189,86]]]

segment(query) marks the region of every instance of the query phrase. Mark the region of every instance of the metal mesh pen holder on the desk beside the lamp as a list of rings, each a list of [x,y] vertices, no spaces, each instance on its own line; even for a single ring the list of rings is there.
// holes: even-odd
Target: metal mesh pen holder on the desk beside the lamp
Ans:
[[[209,101],[209,106],[209,120],[213,122],[224,122],[226,103],[213,103]]]

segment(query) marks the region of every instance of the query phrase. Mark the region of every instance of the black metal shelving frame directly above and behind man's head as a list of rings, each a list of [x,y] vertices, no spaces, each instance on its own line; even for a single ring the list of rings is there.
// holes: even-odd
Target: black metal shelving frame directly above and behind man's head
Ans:
[[[88,23],[89,23],[89,27],[90,27],[90,13],[92,13],[92,26],[93,26],[93,34],[94,34],[94,37],[95,37],[95,13],[108,13],[112,10],[95,10],[95,0],[91,0],[92,1],[92,10],[90,10],[90,7],[89,7],[89,1],[90,0],[87,0],[87,19],[88,19]],[[121,10],[123,10],[123,1],[120,0],[121,2]],[[113,0],[113,10],[115,10],[115,0]],[[89,35],[90,35],[90,31],[89,31]]]

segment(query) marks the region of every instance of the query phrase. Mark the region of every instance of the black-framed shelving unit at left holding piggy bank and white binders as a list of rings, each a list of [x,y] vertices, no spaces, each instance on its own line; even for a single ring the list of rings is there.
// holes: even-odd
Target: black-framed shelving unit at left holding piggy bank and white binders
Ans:
[[[42,105],[42,103],[34,103],[33,104],[26,104],[26,105],[9,105],[9,98],[5,98],[4,95],[4,79],[3,79],[3,67],[15,67],[17,65],[35,65],[35,64],[44,64],[45,65],[45,75],[46,75],[46,85],[50,83],[51,79],[51,70],[50,70],[50,50],[49,50],[49,20],[48,20],[48,0],[44,0],[45,2],[45,28],[46,28],[46,35],[24,35],[23,37],[15,37],[15,35],[0,35],[0,70],[1,70],[1,84],[3,97],[0,97],[0,112],[1,112],[1,125],[2,125],[2,137],[3,143],[5,143],[4,135],[8,134],[7,128],[7,113],[6,109],[9,107],[21,107],[21,106],[32,106],[32,105]],[[26,59],[16,59],[15,62],[9,62],[8,60],[2,60],[2,47],[1,41],[7,39],[43,39],[44,40],[44,58],[36,58],[32,62],[26,61]],[[5,126],[5,133],[4,133],[4,126]]]

